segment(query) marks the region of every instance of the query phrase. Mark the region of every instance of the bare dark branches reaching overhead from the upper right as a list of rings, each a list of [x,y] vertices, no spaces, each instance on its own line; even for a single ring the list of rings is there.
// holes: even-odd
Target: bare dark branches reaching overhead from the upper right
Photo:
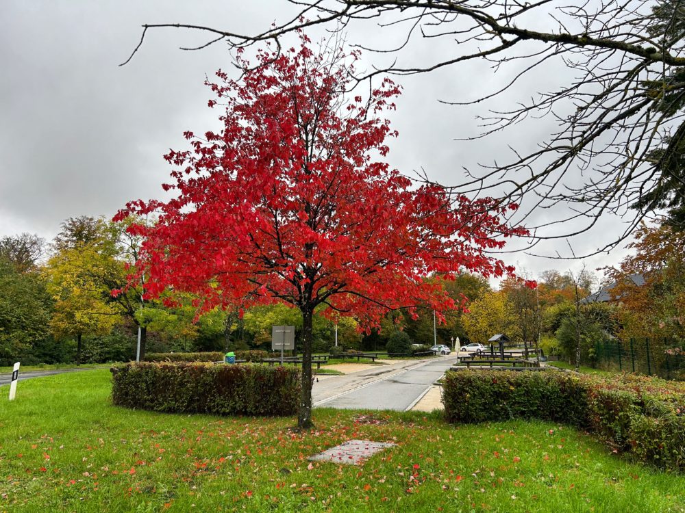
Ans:
[[[468,139],[516,130],[532,118],[558,123],[536,141],[534,150],[511,148],[508,161],[467,170],[466,179],[448,185],[454,194],[497,194],[503,201],[521,203],[516,222],[527,222],[532,245],[585,233],[605,215],[623,218],[625,230],[608,235],[606,245],[593,254],[616,246],[641,220],[664,209],[673,228],[685,228],[685,0],[290,3],[299,9],[297,15],[256,34],[240,34],[233,27],[144,25],[126,62],[140,51],[149,29],[162,27],[207,32],[208,42],[194,49],[219,42],[233,48],[279,43],[293,31],[316,25],[343,32],[360,25],[395,36],[403,30],[393,47],[358,44],[378,60],[390,58],[390,64],[377,66],[357,77],[359,81],[487,60],[493,73],[515,69],[506,86],[466,101],[444,100],[455,108],[484,104],[482,132]],[[407,51],[410,45],[436,49],[434,60],[412,62],[416,54]],[[524,78],[550,63],[569,68],[573,79],[554,90],[517,90]],[[487,102],[504,92],[529,99],[509,109],[488,109]],[[567,215],[548,222],[534,215],[552,207],[564,207]]]

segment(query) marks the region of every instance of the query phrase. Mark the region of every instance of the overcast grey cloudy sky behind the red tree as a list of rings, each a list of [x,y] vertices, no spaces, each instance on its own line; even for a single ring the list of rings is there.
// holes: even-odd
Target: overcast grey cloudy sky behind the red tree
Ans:
[[[132,62],[119,67],[140,39],[142,23],[197,23],[248,33],[292,12],[284,0],[0,2],[0,236],[29,232],[50,240],[66,218],[110,217],[129,200],[161,197],[160,184],[171,170],[162,155],[187,147],[183,131],[216,128],[217,112],[206,107],[211,95],[203,80],[217,68],[231,67],[227,48],[179,51],[206,38],[160,29],[149,33]],[[392,47],[401,38],[400,31],[380,33],[369,24],[347,36],[349,42],[377,47]],[[440,44],[411,47],[406,58],[430,62],[444,50]],[[366,53],[362,63],[371,68],[388,58]],[[454,185],[463,180],[462,167],[510,155],[508,144],[533,148],[556,128],[553,120],[484,141],[457,142],[456,137],[477,133],[475,116],[484,111],[437,101],[475,98],[505,83],[511,73],[495,75],[486,62],[470,62],[397,79],[404,93],[392,118],[400,135],[391,142],[390,163],[403,172],[423,168],[432,179]],[[562,68],[541,70],[494,106],[525,99],[563,79]],[[558,213],[540,212],[535,220],[552,215]],[[598,230],[573,241],[574,250],[595,250],[620,229],[616,220],[603,220]],[[556,241],[536,252],[567,249]],[[623,254],[615,250],[586,264],[592,269],[616,263]],[[582,265],[522,252],[503,258],[533,274]]]

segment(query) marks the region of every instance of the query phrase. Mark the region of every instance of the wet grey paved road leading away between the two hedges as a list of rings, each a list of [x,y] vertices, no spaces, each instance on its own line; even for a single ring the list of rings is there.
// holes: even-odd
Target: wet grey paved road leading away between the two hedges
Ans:
[[[314,383],[314,406],[405,411],[456,361],[456,355],[378,366]]]

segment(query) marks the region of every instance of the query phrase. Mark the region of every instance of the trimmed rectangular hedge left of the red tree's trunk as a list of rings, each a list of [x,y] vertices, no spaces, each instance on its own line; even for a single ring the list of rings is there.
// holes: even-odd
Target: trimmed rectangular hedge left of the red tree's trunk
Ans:
[[[210,363],[127,363],[112,369],[112,402],[158,412],[295,415],[299,369]]]

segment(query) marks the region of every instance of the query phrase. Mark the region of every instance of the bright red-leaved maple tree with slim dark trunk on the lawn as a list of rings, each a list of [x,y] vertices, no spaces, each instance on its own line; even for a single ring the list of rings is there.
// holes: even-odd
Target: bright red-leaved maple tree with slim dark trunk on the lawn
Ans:
[[[397,133],[379,116],[399,88],[385,79],[366,98],[348,99],[356,53],[301,47],[257,53],[239,81],[221,70],[210,107],[225,105],[223,129],[191,150],[165,156],[177,197],[130,202],[116,219],[155,213],[138,276],[149,297],[173,288],[199,298],[200,310],[286,302],[303,316],[298,425],[312,425],[312,316],[356,315],[371,329],[389,309],[455,308],[432,275],[461,269],[483,276],[513,272],[486,250],[522,235],[491,198],[451,197],[419,185],[379,159]],[[132,280],[137,276],[132,276]]]

